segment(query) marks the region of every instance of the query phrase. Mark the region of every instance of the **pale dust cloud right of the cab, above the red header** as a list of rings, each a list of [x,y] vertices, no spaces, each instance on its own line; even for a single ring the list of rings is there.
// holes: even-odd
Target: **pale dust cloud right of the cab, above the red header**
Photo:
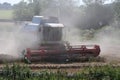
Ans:
[[[115,22],[98,30],[69,27],[66,31],[64,39],[71,44],[100,45],[101,57],[107,62],[120,62],[120,28]]]

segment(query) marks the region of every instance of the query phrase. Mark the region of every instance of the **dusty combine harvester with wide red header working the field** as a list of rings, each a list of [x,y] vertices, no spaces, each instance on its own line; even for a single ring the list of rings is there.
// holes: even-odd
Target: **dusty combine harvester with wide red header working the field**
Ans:
[[[33,26],[38,27],[40,44],[35,49],[27,48],[23,51],[27,63],[43,60],[56,62],[81,60],[100,54],[99,45],[71,45],[68,41],[63,41],[64,25],[59,23],[57,18],[35,17],[40,19],[39,26]]]

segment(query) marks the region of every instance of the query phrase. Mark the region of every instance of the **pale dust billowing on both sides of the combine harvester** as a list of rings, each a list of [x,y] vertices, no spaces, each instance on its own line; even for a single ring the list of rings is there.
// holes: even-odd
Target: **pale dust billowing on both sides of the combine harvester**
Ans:
[[[105,57],[107,61],[120,62],[120,30],[117,24],[105,26],[97,31],[80,30],[77,27],[67,27],[63,31],[63,39],[71,44],[82,45],[100,45],[100,56]],[[117,25],[119,26],[119,25]],[[5,28],[5,27],[2,27]],[[1,59],[21,59],[22,50],[26,48],[34,48],[39,45],[39,37],[37,33],[25,33],[21,31],[22,26],[12,26],[12,30],[7,29],[0,31],[0,55]],[[84,32],[84,33],[83,33]],[[86,39],[86,35],[94,32],[92,39]],[[89,37],[89,36],[87,36]],[[9,55],[9,56],[6,56]]]

